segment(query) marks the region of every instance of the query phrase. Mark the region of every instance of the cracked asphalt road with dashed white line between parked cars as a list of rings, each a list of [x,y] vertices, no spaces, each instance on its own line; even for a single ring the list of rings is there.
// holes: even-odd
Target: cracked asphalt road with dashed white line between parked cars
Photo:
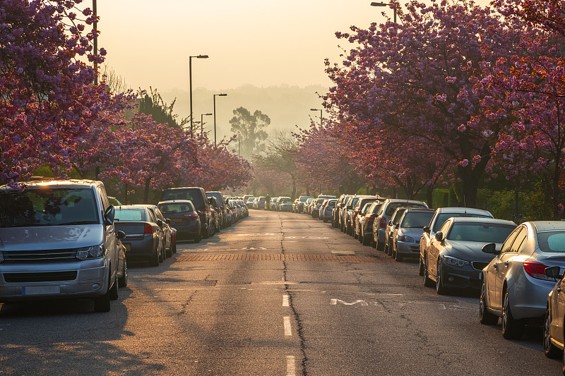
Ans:
[[[251,210],[90,301],[0,305],[4,375],[558,375],[542,332],[480,325],[398,263],[306,214]]]

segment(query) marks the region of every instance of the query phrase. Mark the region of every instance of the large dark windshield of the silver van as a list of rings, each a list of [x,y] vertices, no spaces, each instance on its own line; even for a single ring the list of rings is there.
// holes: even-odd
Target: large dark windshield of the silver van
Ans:
[[[90,188],[32,188],[0,192],[0,227],[98,224]]]

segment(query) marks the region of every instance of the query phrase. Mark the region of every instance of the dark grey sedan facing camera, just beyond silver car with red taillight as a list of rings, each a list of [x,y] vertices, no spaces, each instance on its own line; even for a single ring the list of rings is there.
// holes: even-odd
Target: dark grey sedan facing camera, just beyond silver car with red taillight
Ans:
[[[486,243],[504,242],[516,224],[504,219],[450,218],[429,243],[424,259],[424,284],[444,294],[448,289],[475,289],[481,286],[481,271],[492,260],[482,252]]]

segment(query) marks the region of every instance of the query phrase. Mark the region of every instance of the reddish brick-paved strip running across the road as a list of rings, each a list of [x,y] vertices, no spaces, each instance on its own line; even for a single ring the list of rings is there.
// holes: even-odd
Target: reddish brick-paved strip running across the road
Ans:
[[[177,262],[191,261],[322,261],[322,262],[377,262],[370,256],[338,255],[283,255],[278,254],[241,254],[241,255],[180,255]]]

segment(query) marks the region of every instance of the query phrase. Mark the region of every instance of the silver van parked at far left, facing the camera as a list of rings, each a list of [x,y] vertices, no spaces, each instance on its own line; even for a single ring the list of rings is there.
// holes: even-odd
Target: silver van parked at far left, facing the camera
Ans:
[[[0,186],[0,302],[93,298],[109,311],[127,283],[114,213],[100,181]]]

